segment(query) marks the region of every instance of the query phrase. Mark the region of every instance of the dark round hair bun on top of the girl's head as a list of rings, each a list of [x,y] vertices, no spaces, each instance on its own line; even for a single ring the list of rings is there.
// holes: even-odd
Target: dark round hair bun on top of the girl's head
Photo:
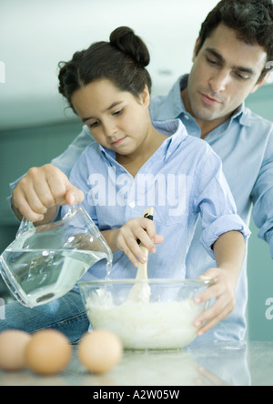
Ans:
[[[127,26],[120,26],[112,32],[110,35],[110,44],[131,57],[138,66],[146,67],[150,63],[147,45]]]

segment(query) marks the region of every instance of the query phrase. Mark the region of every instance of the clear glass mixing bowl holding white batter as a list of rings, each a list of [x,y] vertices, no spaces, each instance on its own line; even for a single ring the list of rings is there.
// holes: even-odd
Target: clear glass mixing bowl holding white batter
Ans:
[[[147,301],[134,301],[136,284],[150,288]],[[194,320],[210,302],[194,298],[213,285],[210,281],[149,279],[79,282],[81,296],[92,328],[108,329],[126,349],[185,348],[197,337]]]

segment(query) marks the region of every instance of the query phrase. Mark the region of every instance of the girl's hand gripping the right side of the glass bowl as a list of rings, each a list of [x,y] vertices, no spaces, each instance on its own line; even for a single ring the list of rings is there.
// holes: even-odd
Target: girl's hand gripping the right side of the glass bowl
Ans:
[[[195,303],[203,303],[211,298],[217,299],[194,322],[195,327],[200,327],[206,322],[197,332],[197,336],[201,337],[233,312],[236,305],[237,279],[233,279],[230,276],[230,271],[224,268],[210,268],[199,279],[213,280],[215,285],[207,288],[201,295],[198,295],[195,298]]]

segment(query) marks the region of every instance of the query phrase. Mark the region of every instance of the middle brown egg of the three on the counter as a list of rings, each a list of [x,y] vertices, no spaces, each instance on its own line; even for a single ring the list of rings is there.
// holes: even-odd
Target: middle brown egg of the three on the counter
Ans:
[[[68,339],[59,331],[37,331],[25,350],[26,365],[40,375],[54,375],[66,368],[72,357]]]

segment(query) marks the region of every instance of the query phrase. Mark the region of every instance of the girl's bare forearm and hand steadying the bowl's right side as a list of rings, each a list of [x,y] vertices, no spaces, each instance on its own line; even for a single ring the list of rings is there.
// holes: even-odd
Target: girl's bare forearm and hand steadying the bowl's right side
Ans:
[[[213,250],[217,268],[208,269],[199,279],[213,280],[215,285],[197,296],[195,302],[199,304],[211,298],[217,301],[195,320],[196,327],[206,322],[198,330],[199,337],[227,318],[235,308],[238,278],[246,256],[245,238],[238,231],[229,231],[217,239]]]

